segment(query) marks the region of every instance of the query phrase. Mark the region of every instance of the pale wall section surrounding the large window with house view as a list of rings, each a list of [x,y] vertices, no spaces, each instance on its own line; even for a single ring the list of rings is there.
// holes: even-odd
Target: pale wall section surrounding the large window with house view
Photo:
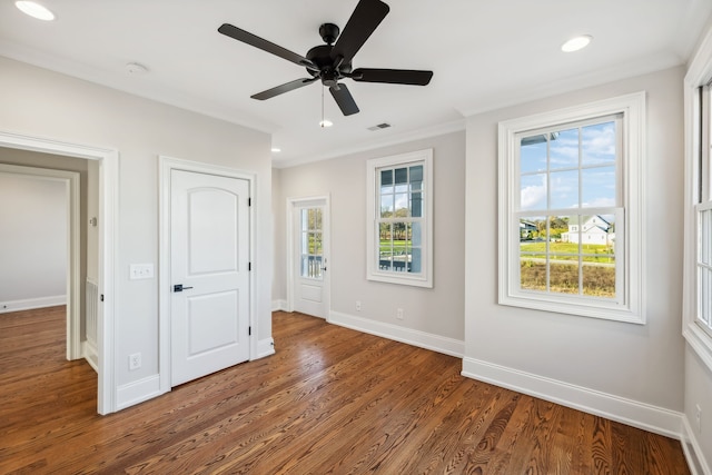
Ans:
[[[465,374],[679,434],[683,72],[670,69],[468,119]],[[497,122],[641,90],[647,92],[646,325],[497,305]]]

